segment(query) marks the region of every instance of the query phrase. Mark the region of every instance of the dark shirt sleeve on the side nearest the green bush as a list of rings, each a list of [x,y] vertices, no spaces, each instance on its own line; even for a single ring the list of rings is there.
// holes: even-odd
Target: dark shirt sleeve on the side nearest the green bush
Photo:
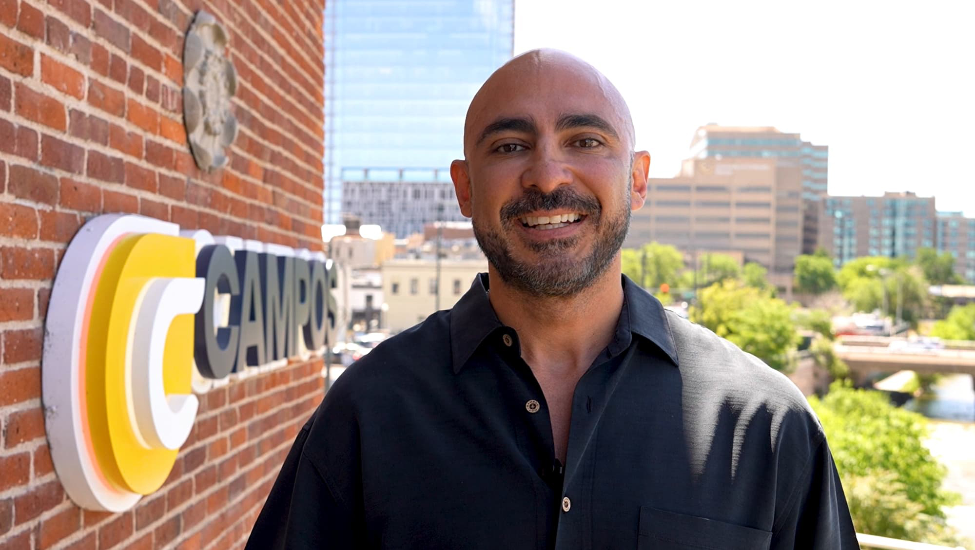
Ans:
[[[772,531],[771,550],[859,550],[833,454],[822,438],[784,515]]]

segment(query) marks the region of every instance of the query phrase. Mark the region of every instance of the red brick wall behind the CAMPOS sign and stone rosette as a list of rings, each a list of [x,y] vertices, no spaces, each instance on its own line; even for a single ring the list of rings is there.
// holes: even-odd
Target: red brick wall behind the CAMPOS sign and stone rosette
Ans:
[[[240,135],[201,173],[182,125],[182,43],[229,31]],[[121,514],[61,489],[41,346],[59,259],[103,213],[321,250],[324,0],[0,0],[0,549],[240,548],[321,399],[321,361],[201,398],[163,488]]]

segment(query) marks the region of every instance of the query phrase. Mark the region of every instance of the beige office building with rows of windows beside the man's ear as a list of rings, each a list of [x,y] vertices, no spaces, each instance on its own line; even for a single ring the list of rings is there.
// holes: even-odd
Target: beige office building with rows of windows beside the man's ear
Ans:
[[[802,246],[802,169],[785,158],[694,158],[677,177],[651,178],[624,246],[674,245],[688,258],[740,254],[792,286]],[[693,261],[693,259],[691,259]]]

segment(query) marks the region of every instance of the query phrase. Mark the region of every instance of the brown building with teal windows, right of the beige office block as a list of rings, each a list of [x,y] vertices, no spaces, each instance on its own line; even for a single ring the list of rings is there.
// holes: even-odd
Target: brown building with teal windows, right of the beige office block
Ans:
[[[819,245],[839,267],[865,255],[914,258],[917,249],[935,248],[934,197],[905,191],[882,197],[826,197],[819,222]]]

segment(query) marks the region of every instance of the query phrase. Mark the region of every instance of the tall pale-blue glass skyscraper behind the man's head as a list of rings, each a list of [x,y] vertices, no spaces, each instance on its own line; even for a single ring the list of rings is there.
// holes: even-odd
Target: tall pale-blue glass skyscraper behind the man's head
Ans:
[[[468,103],[512,56],[514,0],[330,0],[325,35],[325,221],[340,223],[343,180],[449,181]]]

